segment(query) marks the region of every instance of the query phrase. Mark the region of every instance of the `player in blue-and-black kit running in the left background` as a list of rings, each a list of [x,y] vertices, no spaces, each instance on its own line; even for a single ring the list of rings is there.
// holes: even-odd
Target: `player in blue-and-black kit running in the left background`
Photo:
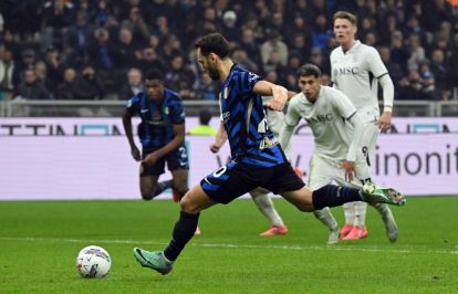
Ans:
[[[132,117],[138,115],[138,136],[142,155],[132,134]],[[145,91],[127,103],[123,125],[132,157],[140,161],[139,187],[142,198],[152,200],[167,188],[174,189],[177,201],[188,190],[188,156],[185,146],[185,111],[181,97],[164,87],[164,75],[150,70],[145,76]],[[165,162],[171,180],[158,182]]]

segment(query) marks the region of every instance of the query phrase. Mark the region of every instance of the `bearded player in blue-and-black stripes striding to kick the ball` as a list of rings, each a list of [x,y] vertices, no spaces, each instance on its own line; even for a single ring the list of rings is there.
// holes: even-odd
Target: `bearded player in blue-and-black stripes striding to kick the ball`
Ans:
[[[171,240],[164,251],[134,248],[134,256],[142,266],[162,274],[169,273],[192,238],[200,211],[217,203],[227,204],[257,187],[281,195],[300,211],[361,200],[404,204],[404,197],[394,189],[365,186],[365,189],[358,190],[327,185],[312,191],[305,187],[264,119],[261,95],[273,96],[267,107],[282,111],[288,91],[235,64],[229,57],[229,43],[219,33],[200,38],[195,46],[204,72],[222,84],[219,97],[221,120],[228,134],[232,160],[205,177],[185,195]]]

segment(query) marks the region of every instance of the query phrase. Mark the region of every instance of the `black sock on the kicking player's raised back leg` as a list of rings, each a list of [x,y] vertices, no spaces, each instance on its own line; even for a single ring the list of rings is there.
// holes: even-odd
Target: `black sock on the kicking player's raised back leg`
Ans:
[[[326,185],[312,193],[313,207],[340,207],[346,202],[361,201],[360,190],[350,187]]]

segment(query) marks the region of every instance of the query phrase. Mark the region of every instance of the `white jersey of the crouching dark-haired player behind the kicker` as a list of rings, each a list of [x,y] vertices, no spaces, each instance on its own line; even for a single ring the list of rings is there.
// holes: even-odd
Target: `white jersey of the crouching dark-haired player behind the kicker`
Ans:
[[[344,93],[321,86],[314,103],[309,102],[302,92],[295,95],[288,106],[284,123],[287,126],[296,126],[304,118],[314,136],[314,154],[333,160],[344,160],[353,133],[345,119],[355,113],[355,106]]]

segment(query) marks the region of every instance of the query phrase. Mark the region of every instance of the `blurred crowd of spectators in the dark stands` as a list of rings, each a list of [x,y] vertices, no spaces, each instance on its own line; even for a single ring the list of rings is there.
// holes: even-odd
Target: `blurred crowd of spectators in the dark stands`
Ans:
[[[397,99],[446,101],[458,85],[458,7],[446,0],[2,0],[0,93],[28,99],[127,99],[157,67],[185,99],[217,99],[194,41],[221,32],[232,57],[298,91],[296,69],[337,46],[332,15],[358,17]],[[1,97],[0,97],[1,98]]]

